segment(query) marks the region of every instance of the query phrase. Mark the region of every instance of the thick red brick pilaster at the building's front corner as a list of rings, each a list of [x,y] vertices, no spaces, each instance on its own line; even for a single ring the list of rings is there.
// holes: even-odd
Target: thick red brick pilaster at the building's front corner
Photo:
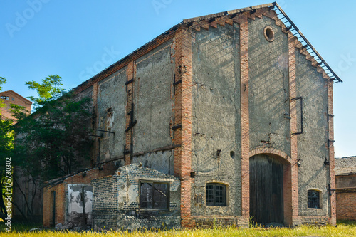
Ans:
[[[175,38],[175,79],[182,80],[176,85],[174,95],[174,144],[181,144],[174,150],[174,176],[181,179],[181,224],[182,228],[195,226],[191,215],[192,200],[192,39],[187,28],[179,28]]]

